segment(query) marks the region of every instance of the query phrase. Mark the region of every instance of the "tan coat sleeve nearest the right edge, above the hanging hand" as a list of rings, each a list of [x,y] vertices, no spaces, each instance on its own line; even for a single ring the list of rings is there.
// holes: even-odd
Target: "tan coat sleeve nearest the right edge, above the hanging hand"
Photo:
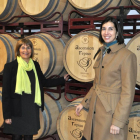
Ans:
[[[128,121],[132,107],[137,77],[137,59],[135,54],[127,55],[121,67],[122,91],[116,106],[112,125],[123,128]]]

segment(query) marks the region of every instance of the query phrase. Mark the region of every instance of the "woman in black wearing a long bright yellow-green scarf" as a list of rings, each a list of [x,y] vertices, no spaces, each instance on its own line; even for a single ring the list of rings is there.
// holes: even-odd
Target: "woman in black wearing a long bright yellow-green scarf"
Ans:
[[[58,79],[46,79],[38,62],[33,61],[32,42],[17,42],[16,60],[5,64],[3,73],[2,105],[4,133],[12,140],[32,140],[40,129],[39,108],[44,110],[43,87],[64,85],[68,74]],[[64,80],[65,79],[65,80]]]

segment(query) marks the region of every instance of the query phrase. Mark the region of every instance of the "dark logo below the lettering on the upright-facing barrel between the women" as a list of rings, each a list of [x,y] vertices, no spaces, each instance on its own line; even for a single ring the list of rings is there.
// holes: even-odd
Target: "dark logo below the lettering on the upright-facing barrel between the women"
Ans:
[[[88,57],[84,57],[82,59],[80,59],[79,61],[77,61],[77,64],[84,69],[85,72],[87,72],[87,69],[91,66],[92,64],[92,60],[91,58]]]

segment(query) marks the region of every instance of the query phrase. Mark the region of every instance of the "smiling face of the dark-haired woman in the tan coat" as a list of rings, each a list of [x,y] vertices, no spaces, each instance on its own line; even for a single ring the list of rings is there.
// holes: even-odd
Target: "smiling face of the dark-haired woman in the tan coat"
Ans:
[[[114,23],[107,22],[102,25],[101,35],[105,43],[110,43],[116,40],[117,31],[114,26]]]

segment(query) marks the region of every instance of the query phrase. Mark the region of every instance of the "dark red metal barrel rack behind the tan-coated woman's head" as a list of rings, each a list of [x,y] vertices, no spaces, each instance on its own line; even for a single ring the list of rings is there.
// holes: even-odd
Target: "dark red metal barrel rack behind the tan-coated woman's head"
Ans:
[[[140,15],[124,15],[124,10],[126,9],[138,9],[140,10],[140,7],[138,6],[120,6],[120,7],[110,7],[106,9],[105,11],[101,12],[100,14],[97,14],[95,16],[87,16],[84,15],[76,10],[73,10],[69,13],[69,20],[68,20],[68,34],[72,36],[74,33],[83,32],[87,30],[97,30],[99,31],[100,23],[102,20],[105,19],[105,17],[101,17],[102,14],[106,13],[109,10],[112,9],[119,9],[120,15],[119,16],[113,16],[116,18],[120,24],[122,24],[122,27],[132,26],[133,29],[122,29],[123,35],[125,38],[131,38],[135,36],[136,34],[140,33],[140,29],[137,29],[136,27],[140,25]],[[83,18],[71,18],[71,14],[73,12],[78,13]]]

